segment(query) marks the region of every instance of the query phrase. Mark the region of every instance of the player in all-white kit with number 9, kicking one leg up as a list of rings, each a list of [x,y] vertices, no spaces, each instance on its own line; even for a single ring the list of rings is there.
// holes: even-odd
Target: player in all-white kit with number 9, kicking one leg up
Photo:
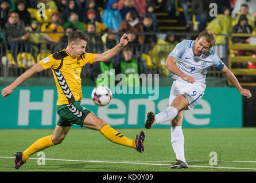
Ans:
[[[169,107],[154,115],[149,112],[145,128],[150,129],[155,124],[170,121],[171,143],[176,154],[176,162],[170,168],[188,168],[184,156],[184,136],[181,129],[184,110],[193,108],[203,97],[205,90],[205,75],[207,69],[214,66],[247,98],[251,93],[243,89],[235,75],[210,48],[215,44],[215,35],[202,31],[195,41],[187,40],[178,43],[166,59],[165,67],[172,73],[176,81],[170,90]]]

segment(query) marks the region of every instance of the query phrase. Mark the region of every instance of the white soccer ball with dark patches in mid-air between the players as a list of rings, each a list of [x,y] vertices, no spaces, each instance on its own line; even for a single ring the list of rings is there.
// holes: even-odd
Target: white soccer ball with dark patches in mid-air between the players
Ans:
[[[108,105],[112,98],[111,90],[106,86],[96,86],[92,90],[92,101],[98,106]]]

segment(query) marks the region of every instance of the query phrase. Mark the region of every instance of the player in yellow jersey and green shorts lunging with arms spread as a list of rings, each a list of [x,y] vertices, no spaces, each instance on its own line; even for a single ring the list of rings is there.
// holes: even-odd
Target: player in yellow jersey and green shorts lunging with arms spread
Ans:
[[[129,146],[143,152],[145,133],[141,131],[136,140],[131,140],[117,132],[107,122],[95,116],[90,110],[80,105],[82,87],[80,73],[87,63],[106,62],[119,53],[129,42],[129,36],[123,34],[118,45],[102,54],[86,53],[88,37],[82,31],[74,31],[68,37],[66,49],[53,53],[36,63],[33,67],[20,75],[11,85],[2,90],[3,98],[9,96],[13,90],[33,74],[45,69],[52,69],[59,99],[57,113],[60,116],[56,128],[51,136],[38,139],[24,152],[15,153],[15,169],[19,169],[32,154],[45,148],[60,144],[73,124],[89,129],[99,130],[108,140],[116,144]]]

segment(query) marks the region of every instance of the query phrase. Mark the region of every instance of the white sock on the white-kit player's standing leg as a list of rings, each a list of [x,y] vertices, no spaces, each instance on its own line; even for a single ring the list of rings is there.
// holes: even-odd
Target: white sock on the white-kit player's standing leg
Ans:
[[[173,126],[170,128],[170,136],[172,148],[176,154],[176,159],[186,162],[184,155],[184,136],[181,126]]]

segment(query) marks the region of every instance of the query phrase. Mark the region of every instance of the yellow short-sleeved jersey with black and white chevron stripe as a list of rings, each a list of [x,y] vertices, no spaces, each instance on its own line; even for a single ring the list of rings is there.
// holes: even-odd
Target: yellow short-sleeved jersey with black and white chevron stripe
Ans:
[[[71,104],[82,100],[81,72],[86,63],[92,64],[97,54],[84,52],[80,57],[73,58],[63,49],[42,59],[42,68],[52,69],[57,92],[59,94],[57,105]]]

